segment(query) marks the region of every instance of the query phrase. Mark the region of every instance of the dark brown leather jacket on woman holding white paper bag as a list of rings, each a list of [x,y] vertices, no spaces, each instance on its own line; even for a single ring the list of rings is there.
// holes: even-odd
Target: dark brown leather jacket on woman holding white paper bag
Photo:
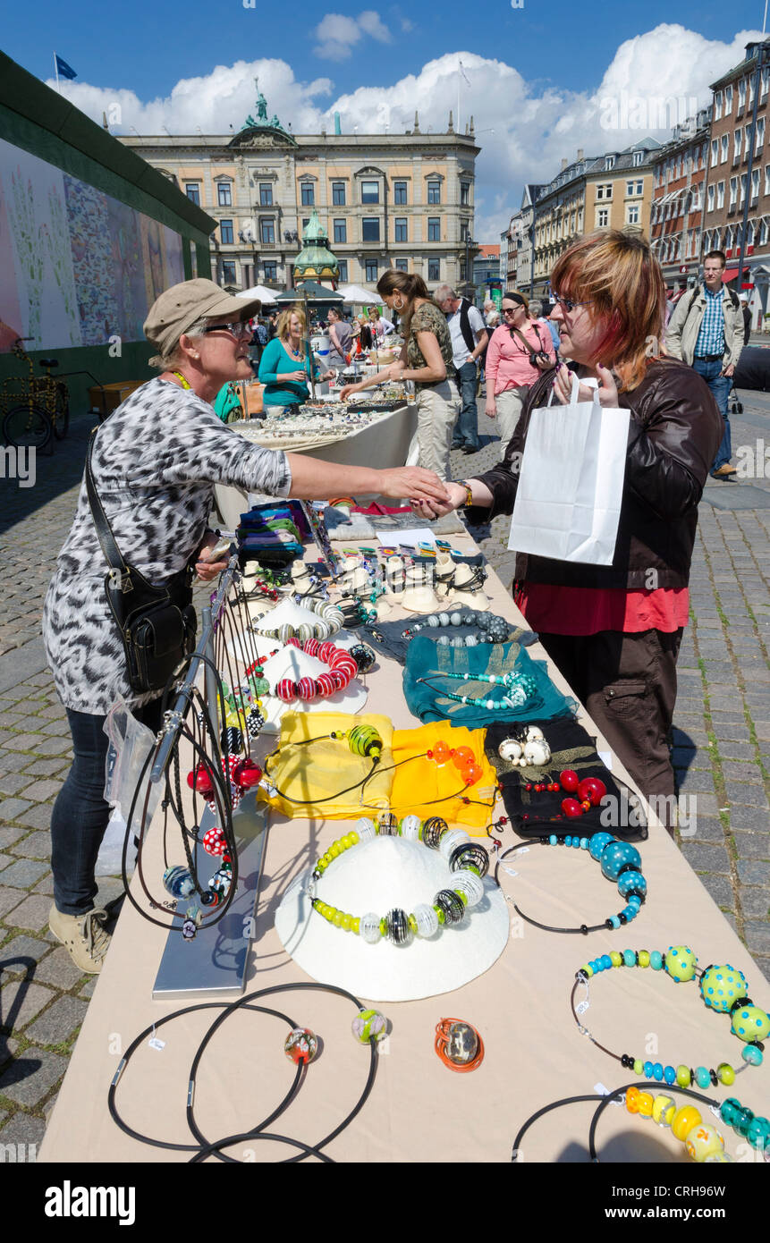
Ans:
[[[530,414],[545,405],[554,372],[544,372],[530,389],[505,457],[479,479],[493,493],[490,510],[466,510],[470,522],[513,513]],[[689,580],[698,523],[698,502],[721,440],[723,420],[712,393],[690,367],[661,358],[648,365],[642,383],[621,393],[618,405],[631,410],[626,480],[612,566],[516,556],[516,579],[557,587],[682,588]],[[559,491],[559,480],[554,480]]]

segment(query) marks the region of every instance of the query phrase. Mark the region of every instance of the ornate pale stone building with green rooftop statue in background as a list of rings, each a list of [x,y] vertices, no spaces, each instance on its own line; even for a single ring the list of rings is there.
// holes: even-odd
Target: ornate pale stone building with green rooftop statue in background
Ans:
[[[452,113],[444,134],[422,133],[417,113],[403,134],[292,134],[267,118],[257,93],[235,135],[121,142],[216,219],[211,275],[223,286],[291,287],[313,208],[341,283],[372,287],[386,267],[417,272],[432,288],[468,278],[480,150],[473,121],[465,134]]]

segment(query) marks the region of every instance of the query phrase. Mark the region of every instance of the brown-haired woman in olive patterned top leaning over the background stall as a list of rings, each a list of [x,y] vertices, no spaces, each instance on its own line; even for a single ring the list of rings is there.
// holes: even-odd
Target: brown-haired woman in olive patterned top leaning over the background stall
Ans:
[[[358,384],[346,385],[340,395],[345,400],[348,393],[382,384],[383,379],[414,380],[419,464],[440,479],[450,479],[449,452],[460,397],[447,318],[422,276],[388,268],[377,281],[377,292],[401,316],[406,346],[397,363]]]

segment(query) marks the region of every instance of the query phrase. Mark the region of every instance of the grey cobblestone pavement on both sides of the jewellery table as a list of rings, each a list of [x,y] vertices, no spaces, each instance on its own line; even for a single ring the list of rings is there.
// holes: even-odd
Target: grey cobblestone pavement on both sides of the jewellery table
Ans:
[[[96,984],[47,931],[51,804],[71,740],[40,639],[42,598],[75,512],[92,421],[75,419],[55,454],[39,457],[34,487],[6,484],[0,518],[0,1145],[25,1145],[20,1160],[34,1157],[42,1139]],[[748,394],[731,425],[734,450],[763,438],[770,450],[770,395]],[[453,454],[455,477],[498,461],[495,426],[483,413],[479,430],[479,454]],[[680,793],[698,800],[695,832],[682,850],[770,978],[770,452],[768,476],[707,485],[679,659],[674,763]],[[474,531],[506,583],[508,527],[500,517]],[[107,879],[97,902],[119,890]]]

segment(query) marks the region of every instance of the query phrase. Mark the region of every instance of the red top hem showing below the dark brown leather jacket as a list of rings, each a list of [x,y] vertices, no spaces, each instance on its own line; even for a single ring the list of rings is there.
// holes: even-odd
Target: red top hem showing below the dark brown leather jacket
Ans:
[[[598,634],[600,630],[662,630],[670,634],[685,626],[689,615],[687,587],[654,592],[622,587],[551,587],[525,583],[515,595],[532,630],[542,634]]]

